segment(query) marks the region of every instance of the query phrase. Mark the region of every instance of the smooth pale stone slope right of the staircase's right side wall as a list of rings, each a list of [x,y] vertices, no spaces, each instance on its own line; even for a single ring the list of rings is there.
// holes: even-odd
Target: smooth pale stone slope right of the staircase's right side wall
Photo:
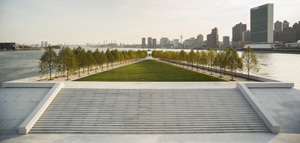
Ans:
[[[300,133],[300,91],[295,88],[250,88],[282,133]],[[299,141],[300,142],[300,141]]]

